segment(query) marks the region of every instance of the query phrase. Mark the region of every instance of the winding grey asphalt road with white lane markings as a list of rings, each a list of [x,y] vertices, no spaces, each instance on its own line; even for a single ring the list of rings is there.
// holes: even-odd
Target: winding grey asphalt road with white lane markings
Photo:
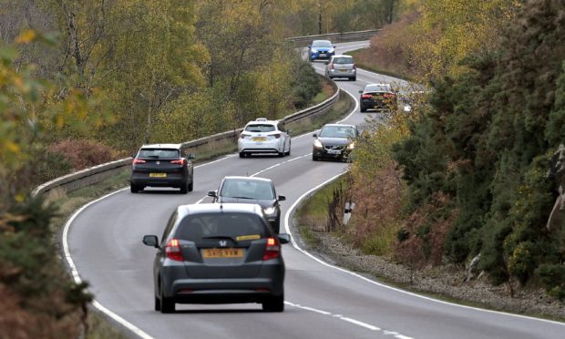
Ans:
[[[338,44],[337,52],[368,42]],[[318,71],[323,63],[315,63]],[[357,81],[338,81],[354,98],[369,82],[391,78],[359,70]],[[401,85],[401,84],[400,84]],[[374,114],[374,113],[373,113]],[[344,123],[362,124],[354,112]],[[271,178],[282,202],[286,230],[307,192],[344,172],[347,164],[313,162],[312,133],[293,138],[290,157],[240,159],[237,154],[195,168],[194,191],[118,190],[78,211],[67,222],[63,243],[78,280],[90,282],[95,305],[131,331],[149,338],[563,338],[565,324],[478,310],[406,293],[333,267],[283,246],[286,262],[285,312],[262,313],[260,304],[177,305],[177,313],[153,311],[151,265],[155,250],[144,234],[160,236],[170,212],[180,204],[207,202],[226,175]]]

